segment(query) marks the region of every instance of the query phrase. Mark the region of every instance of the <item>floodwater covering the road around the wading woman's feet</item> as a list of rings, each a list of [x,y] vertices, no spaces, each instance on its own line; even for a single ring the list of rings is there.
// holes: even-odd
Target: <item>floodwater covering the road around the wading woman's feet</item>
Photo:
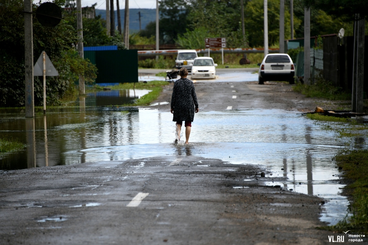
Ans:
[[[347,214],[348,201],[339,195],[340,173],[331,160],[343,143],[304,116],[277,109],[200,112],[192,123],[191,144],[174,145],[169,111],[158,111],[155,105],[98,107],[97,97],[87,97],[79,107],[48,109],[46,116],[38,113],[32,119],[24,118],[20,109],[2,109],[0,134],[28,147],[1,155],[1,169],[194,155],[262,165],[270,179],[266,185],[328,199],[322,221],[336,224]],[[85,106],[93,100],[95,104]]]

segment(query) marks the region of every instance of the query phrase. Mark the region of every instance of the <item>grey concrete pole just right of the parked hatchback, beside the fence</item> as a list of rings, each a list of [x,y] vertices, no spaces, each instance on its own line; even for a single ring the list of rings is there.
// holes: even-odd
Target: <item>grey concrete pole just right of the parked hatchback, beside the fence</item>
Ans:
[[[304,8],[304,84],[311,84],[311,9]]]

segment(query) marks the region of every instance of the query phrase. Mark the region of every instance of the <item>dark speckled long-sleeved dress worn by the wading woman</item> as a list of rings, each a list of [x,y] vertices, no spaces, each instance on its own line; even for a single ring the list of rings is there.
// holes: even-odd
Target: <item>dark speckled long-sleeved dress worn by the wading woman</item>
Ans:
[[[198,101],[193,82],[187,78],[176,80],[171,96],[171,109],[174,111],[173,122],[193,122],[195,108],[198,108]]]

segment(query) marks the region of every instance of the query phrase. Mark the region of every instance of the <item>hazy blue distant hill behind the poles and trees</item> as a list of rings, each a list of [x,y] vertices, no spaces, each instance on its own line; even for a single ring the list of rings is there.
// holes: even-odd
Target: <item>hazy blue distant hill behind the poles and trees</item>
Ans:
[[[129,9],[129,32],[135,33],[139,31],[138,12],[141,12],[142,29],[151,21],[156,21],[156,9],[151,8],[130,8]],[[106,19],[106,10],[96,9],[96,15],[101,15],[102,19]],[[120,10],[121,31],[124,29],[124,9]],[[117,26],[117,11],[115,10],[115,25]]]

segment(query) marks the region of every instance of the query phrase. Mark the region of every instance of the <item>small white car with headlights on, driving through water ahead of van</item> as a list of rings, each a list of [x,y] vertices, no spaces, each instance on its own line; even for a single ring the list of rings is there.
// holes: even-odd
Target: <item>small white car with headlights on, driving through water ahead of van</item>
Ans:
[[[213,62],[211,57],[197,57],[194,59],[192,66],[193,78],[216,78],[217,64]]]

